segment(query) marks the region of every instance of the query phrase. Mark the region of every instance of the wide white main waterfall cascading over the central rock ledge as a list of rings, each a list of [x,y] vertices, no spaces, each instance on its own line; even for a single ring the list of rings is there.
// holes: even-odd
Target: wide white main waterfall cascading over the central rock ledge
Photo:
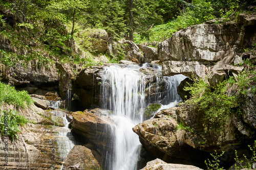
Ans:
[[[142,67],[138,65],[104,67],[104,76],[101,82],[101,107],[113,110],[114,114],[111,118],[116,125],[111,133],[113,141],[110,142],[113,144],[114,151],[112,155],[107,153],[110,154],[106,155],[110,162],[106,163],[105,169],[137,169],[140,142],[132,128],[143,121],[141,108],[145,108],[150,103],[160,103],[163,108],[164,106],[172,107],[180,100],[176,89],[185,76],[154,75],[150,77],[139,71],[146,67],[146,64]],[[157,66],[154,69],[161,69],[161,67]],[[147,96],[146,100],[146,89],[152,91],[150,89],[152,84],[148,83],[148,79],[156,81],[153,96],[151,98]],[[158,83],[164,83],[165,89],[158,89]]]

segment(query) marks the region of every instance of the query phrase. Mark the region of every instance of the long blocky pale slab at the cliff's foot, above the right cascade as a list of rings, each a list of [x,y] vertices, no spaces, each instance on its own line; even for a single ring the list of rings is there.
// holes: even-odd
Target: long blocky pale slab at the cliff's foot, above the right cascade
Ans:
[[[163,76],[173,76],[182,74],[187,77],[206,77],[210,70],[209,63],[202,61],[165,61],[162,63]],[[208,66],[207,66],[207,65]]]

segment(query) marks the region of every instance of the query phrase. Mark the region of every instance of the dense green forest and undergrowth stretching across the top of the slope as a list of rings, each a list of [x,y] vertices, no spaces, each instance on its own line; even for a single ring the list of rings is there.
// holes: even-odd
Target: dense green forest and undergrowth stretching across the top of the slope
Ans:
[[[253,4],[245,0],[1,1],[0,36],[12,47],[1,47],[0,55],[5,65],[15,62],[11,55],[66,61],[78,54],[74,43],[85,53],[92,52],[95,37],[108,43],[125,38],[156,45],[188,26],[221,17],[228,21]],[[83,62],[79,57],[72,60]]]

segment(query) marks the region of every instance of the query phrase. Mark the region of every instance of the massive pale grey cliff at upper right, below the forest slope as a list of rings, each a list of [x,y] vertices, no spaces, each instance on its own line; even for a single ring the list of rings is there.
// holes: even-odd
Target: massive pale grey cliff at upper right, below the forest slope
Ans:
[[[233,70],[232,73],[237,75],[240,68],[223,65],[216,69],[212,64],[230,56],[234,59],[229,64],[242,62],[239,56],[244,48],[250,48],[256,43],[254,19],[253,14],[240,14],[239,23],[216,25],[208,22],[174,33],[158,46],[159,59],[163,62],[163,75],[184,74],[190,77],[193,71],[196,76],[205,77],[210,70]],[[198,73],[199,70],[202,71]]]

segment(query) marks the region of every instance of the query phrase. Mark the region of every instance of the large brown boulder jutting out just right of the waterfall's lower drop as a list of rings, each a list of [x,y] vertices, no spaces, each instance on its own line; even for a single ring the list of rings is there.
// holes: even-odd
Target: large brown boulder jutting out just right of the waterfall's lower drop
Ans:
[[[136,125],[133,131],[139,135],[140,142],[148,152],[158,158],[169,157],[189,159],[197,155],[198,159],[202,155],[188,145],[180,144],[177,136],[178,123],[170,116],[167,118],[153,118],[145,120]],[[191,154],[193,153],[193,154]],[[165,156],[166,158],[166,156]]]

